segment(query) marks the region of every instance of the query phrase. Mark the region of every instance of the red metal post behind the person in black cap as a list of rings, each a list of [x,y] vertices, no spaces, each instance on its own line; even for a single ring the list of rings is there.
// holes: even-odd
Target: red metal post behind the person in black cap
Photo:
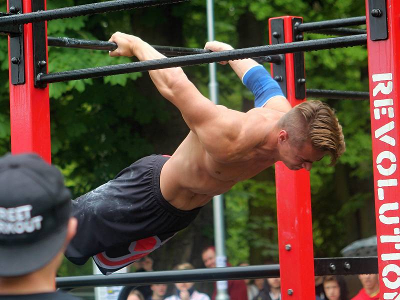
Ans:
[[[23,0],[22,6],[23,12],[31,12],[31,0]],[[23,25],[23,30],[25,83],[13,85],[9,82],[11,152],[35,152],[51,162],[48,86],[35,88],[33,85],[32,25]],[[11,78],[11,74],[9,77]]]

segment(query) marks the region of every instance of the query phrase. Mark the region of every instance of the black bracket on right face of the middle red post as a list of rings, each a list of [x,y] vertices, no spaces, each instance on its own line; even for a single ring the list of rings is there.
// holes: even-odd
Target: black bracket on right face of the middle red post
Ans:
[[[296,27],[302,23],[299,17],[293,17],[291,20],[291,27],[293,32],[293,41],[303,40],[301,32],[297,32]],[[305,98],[305,71],[304,71],[304,52],[293,53],[293,66],[294,66],[294,94],[296,99]]]

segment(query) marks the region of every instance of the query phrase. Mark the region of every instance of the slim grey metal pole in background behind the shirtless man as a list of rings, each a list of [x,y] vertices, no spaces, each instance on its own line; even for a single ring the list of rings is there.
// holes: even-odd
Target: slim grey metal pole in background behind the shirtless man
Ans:
[[[208,40],[214,40],[214,10],[213,0],[207,0],[207,31]],[[210,63],[209,70],[209,97],[212,102],[218,104],[218,82],[216,81],[216,65]],[[223,220],[223,196],[216,195],[212,199],[214,212],[214,243],[215,243],[215,264],[216,267],[226,266],[225,255],[225,226]],[[227,294],[228,282],[226,280],[216,282],[216,300],[229,300]]]

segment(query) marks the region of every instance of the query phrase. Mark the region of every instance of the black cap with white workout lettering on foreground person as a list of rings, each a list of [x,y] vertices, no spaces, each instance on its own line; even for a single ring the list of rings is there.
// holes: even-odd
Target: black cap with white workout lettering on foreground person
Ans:
[[[0,158],[0,277],[33,272],[59,252],[70,199],[60,171],[36,154]]]

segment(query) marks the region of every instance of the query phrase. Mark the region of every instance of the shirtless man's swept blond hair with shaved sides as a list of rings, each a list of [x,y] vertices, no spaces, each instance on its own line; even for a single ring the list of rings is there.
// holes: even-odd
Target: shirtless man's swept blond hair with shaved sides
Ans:
[[[330,164],[345,151],[344,136],[334,111],[321,101],[304,101],[281,117],[278,125],[287,131],[291,144],[301,146],[306,140],[312,147],[330,155]]]

